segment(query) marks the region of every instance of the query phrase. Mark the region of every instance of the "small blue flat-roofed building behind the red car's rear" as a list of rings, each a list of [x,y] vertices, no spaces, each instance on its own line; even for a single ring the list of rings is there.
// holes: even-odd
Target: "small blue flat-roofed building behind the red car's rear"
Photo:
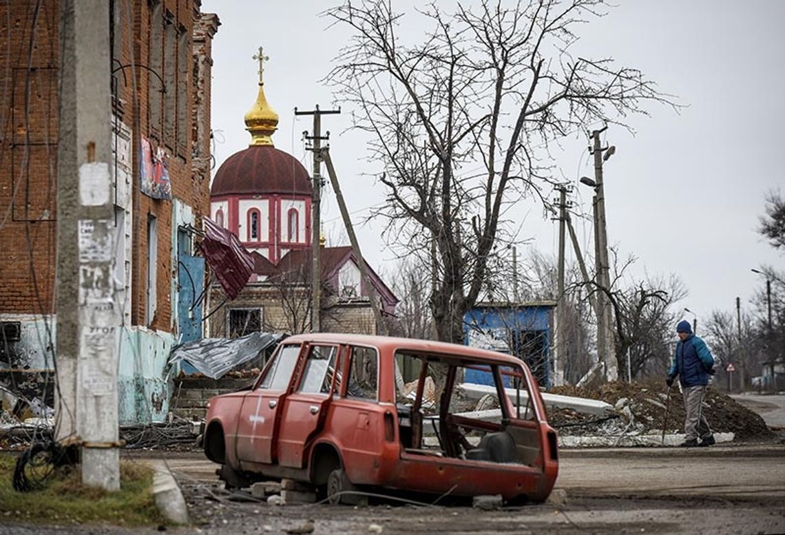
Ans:
[[[480,303],[463,316],[464,340],[473,348],[521,358],[540,386],[550,388],[550,340],[555,301],[519,304]],[[466,370],[465,380],[493,384],[491,373]]]

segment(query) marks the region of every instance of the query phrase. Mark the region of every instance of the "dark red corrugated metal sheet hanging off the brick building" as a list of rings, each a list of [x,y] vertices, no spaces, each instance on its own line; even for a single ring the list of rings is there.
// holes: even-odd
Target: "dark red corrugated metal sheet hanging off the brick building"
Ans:
[[[254,258],[237,236],[207,217],[204,218],[204,233],[200,246],[204,258],[221,288],[231,299],[235,299],[254,271]]]

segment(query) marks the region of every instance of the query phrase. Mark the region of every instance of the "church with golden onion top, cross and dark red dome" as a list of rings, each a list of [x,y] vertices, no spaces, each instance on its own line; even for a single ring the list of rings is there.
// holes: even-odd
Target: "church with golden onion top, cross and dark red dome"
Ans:
[[[254,258],[250,280],[228,299],[217,284],[208,297],[210,337],[241,337],[255,331],[302,333],[311,329],[312,247],[319,246],[321,271],[320,329],[338,333],[376,334],[371,296],[379,300],[383,321],[395,315],[398,302],[389,287],[349,246],[312,243],[312,177],[297,158],[275,147],[272,135],[278,114],[265,96],[264,56],[260,62],[257,100],[245,115],[250,144],[225,160],[210,190],[210,219],[231,231]]]

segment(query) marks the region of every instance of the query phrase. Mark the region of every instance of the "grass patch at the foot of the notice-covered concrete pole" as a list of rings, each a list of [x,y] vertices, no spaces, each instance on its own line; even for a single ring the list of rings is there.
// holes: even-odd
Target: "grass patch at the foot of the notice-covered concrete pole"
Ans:
[[[116,493],[83,486],[75,468],[59,469],[42,490],[17,493],[11,486],[14,464],[15,456],[0,453],[0,524],[166,523],[152,496],[152,470],[144,465],[120,461],[120,490]]]

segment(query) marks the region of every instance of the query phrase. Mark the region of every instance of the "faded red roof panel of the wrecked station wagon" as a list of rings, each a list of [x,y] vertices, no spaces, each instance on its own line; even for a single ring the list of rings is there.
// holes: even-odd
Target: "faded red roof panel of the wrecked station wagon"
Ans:
[[[308,333],[297,334],[288,337],[285,340],[281,340],[281,344],[291,342],[325,342],[328,344],[366,345],[373,346],[380,350],[422,351],[425,353],[457,355],[489,362],[498,362],[499,364],[520,365],[524,363],[520,358],[498,353],[496,351],[472,348],[462,344],[437,342],[434,340],[418,340],[416,338],[381,337],[367,334]]]

